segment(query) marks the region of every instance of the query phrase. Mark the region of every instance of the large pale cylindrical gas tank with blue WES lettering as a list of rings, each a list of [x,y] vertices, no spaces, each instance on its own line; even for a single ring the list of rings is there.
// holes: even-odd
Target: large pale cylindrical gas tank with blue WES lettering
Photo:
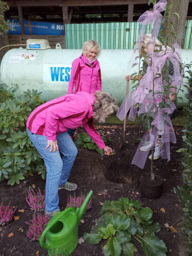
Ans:
[[[51,100],[67,93],[72,61],[81,55],[81,50],[61,49],[12,49],[3,57],[0,68],[0,81],[12,87],[19,85],[17,93],[38,90],[42,100]],[[125,98],[125,75],[132,50],[102,50],[99,63],[102,76],[102,90],[111,93],[118,102]],[[192,50],[182,50],[184,63],[190,63]],[[135,67],[137,71],[137,67]],[[132,71],[131,71],[132,72]],[[132,83],[130,83],[130,90]],[[188,102],[180,92],[179,102]]]

